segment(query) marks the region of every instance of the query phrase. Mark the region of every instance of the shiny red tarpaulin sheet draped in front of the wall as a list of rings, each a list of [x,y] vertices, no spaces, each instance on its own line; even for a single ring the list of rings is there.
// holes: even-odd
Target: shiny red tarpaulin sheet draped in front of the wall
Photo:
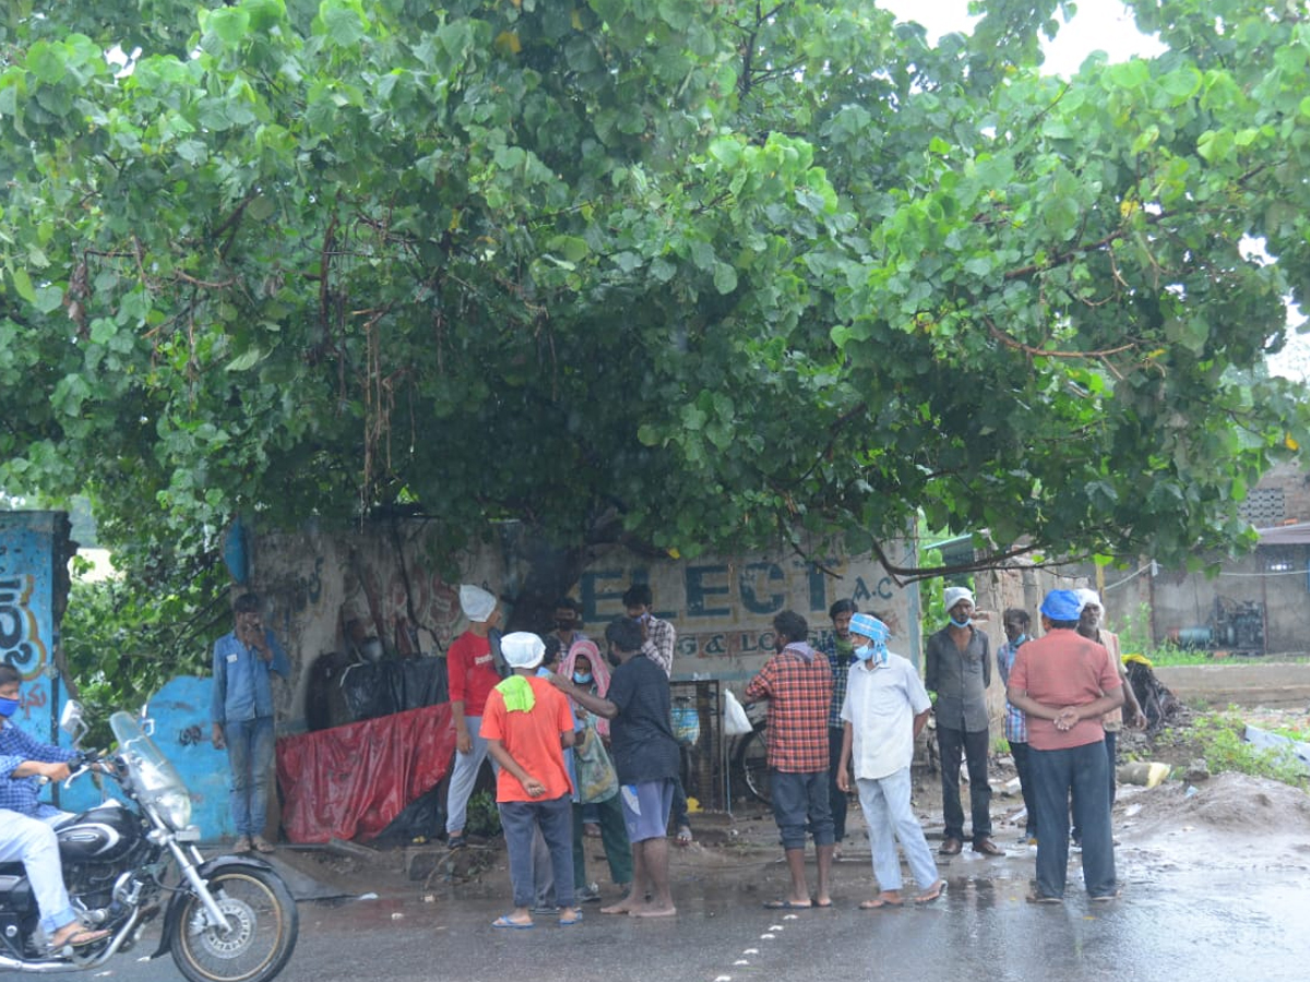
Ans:
[[[453,753],[449,703],[283,737],[278,786],[287,838],[376,837],[445,776]]]

